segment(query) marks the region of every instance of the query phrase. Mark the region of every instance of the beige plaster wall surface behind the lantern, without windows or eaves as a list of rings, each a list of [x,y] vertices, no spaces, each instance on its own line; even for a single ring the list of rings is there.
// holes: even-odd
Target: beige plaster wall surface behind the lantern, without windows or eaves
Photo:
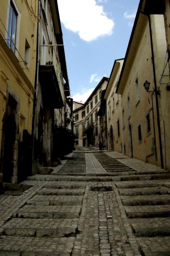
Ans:
[[[165,163],[165,149],[164,149],[164,138],[166,144],[169,145],[169,92],[166,90],[166,85],[169,81],[168,69],[165,70],[162,78],[162,84],[159,84],[161,74],[163,72],[165,55],[166,55],[166,40],[164,30],[163,15],[151,15],[151,26],[153,35],[153,50],[156,67],[156,84],[160,87],[161,96],[159,97],[159,112],[160,112],[160,125],[161,125],[161,141]],[[133,38],[135,41],[135,38]],[[133,45],[133,44],[132,44]],[[132,49],[131,49],[132,51]],[[158,136],[158,125],[156,115],[156,99],[153,95],[153,108],[152,108],[152,93],[147,93],[144,89],[144,81],[150,82],[150,90],[154,88],[153,79],[153,63],[151,58],[151,47],[150,47],[150,32],[148,20],[145,22],[141,38],[139,40],[136,49],[134,48],[134,58],[131,63],[131,67],[128,70],[128,74],[123,75],[124,81],[126,81],[124,89],[118,90],[118,93],[122,94],[122,109],[125,111],[125,128],[122,130],[122,145],[126,148],[127,155],[131,156],[130,152],[130,130],[129,125],[132,127],[132,144],[133,144],[133,157],[156,164],[160,163],[160,151],[159,151],[159,136]],[[137,81],[137,83],[136,83]],[[138,93],[137,92],[138,87]],[[139,95],[139,97],[137,97]],[[130,105],[130,113],[128,111],[128,97]],[[122,111],[122,110],[121,110]],[[150,116],[150,131],[147,131],[147,119],[146,116]],[[154,116],[154,117],[153,117]],[[155,136],[154,127],[155,124]],[[165,137],[164,127],[165,125]],[[138,127],[141,125],[142,140],[139,141]],[[153,153],[153,139],[156,137],[156,154]],[[154,153],[156,153],[154,151]],[[166,148],[166,155],[169,156],[169,147]],[[167,157],[169,159],[169,157]],[[169,165],[167,160],[167,166]]]

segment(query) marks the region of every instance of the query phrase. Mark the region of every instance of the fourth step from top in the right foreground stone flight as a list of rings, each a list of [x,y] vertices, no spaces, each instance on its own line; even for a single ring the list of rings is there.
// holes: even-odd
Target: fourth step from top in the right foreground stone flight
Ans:
[[[125,206],[127,218],[170,217],[169,205]]]

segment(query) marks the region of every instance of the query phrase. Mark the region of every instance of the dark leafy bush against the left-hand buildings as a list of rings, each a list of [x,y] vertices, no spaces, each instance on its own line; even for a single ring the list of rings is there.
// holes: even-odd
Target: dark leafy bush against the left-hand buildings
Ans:
[[[76,148],[74,132],[64,126],[57,126],[54,132],[53,158],[63,157],[70,154]]]

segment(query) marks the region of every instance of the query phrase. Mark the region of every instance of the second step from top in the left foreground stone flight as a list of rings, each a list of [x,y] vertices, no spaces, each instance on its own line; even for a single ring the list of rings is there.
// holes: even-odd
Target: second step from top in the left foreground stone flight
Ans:
[[[84,195],[85,189],[48,189],[42,188],[37,195]]]

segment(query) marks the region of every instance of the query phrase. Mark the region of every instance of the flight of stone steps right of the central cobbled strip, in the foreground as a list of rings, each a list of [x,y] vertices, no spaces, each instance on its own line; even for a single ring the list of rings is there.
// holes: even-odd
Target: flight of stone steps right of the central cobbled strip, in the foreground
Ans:
[[[116,186],[142,256],[169,256],[170,180]]]

